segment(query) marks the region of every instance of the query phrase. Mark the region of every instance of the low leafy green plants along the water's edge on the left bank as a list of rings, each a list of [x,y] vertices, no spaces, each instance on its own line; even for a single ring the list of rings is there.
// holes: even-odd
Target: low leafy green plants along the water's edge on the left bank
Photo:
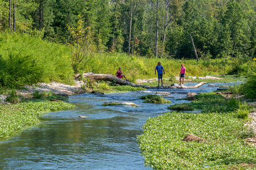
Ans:
[[[75,105],[63,101],[0,104],[0,139],[6,139],[26,126],[38,124],[40,114],[73,108]]]

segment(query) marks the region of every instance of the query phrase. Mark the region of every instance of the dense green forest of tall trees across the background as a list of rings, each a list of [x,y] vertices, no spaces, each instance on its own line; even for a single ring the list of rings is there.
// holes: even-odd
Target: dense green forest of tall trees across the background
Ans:
[[[0,0],[0,31],[90,53],[190,59],[255,56],[254,0]],[[80,32],[82,35],[80,36]]]

